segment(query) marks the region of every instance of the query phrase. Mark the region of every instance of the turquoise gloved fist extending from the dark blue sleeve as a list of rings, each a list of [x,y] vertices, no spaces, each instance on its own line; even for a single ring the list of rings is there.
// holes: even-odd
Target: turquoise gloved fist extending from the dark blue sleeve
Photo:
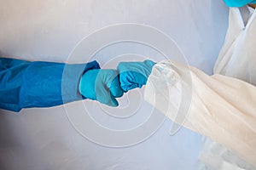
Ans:
[[[79,92],[87,99],[93,99],[109,106],[118,106],[115,98],[124,93],[120,88],[117,70],[94,69],[86,71],[80,79]]]

